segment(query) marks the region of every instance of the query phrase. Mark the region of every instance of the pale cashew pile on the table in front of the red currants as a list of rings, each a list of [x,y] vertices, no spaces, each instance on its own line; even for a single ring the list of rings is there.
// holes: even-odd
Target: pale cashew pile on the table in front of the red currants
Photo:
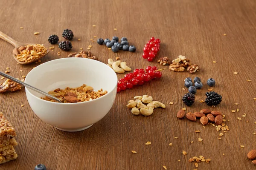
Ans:
[[[127,105],[127,107],[131,109],[131,113],[133,113],[134,115],[139,115],[141,113],[143,116],[150,116],[151,114],[153,114],[154,108],[166,108],[163,103],[153,101],[152,96],[135,96],[134,99],[135,101],[129,100]]]

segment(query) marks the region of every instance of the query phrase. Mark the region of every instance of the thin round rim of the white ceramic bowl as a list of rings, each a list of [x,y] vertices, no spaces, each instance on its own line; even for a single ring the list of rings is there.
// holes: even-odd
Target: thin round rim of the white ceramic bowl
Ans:
[[[67,60],[67,59],[87,59],[87,58],[70,57],[70,58],[53,59],[53,60],[51,60],[51,61],[44,62],[44,63],[42,63],[41,65],[44,65],[44,64],[49,63],[49,62],[56,62],[55,60]],[[99,62],[99,63],[101,63],[102,65],[107,66],[104,62],[100,62],[100,61],[95,60],[95,59],[90,59],[90,60],[93,60],[92,62]],[[41,67],[41,66],[38,65],[37,67],[33,68],[32,70],[38,69],[38,67]],[[109,66],[107,66],[107,67],[108,67],[109,69],[111,69],[111,71],[113,71],[112,68],[110,68]],[[29,76],[29,74],[32,72],[32,70],[29,71],[29,73],[26,75],[26,77]],[[115,71],[113,71],[113,73],[116,74]],[[27,82],[26,82],[26,78],[25,78],[25,81],[24,81],[24,82],[27,83]],[[116,76],[116,86],[117,86],[117,76]],[[111,91],[108,91],[108,93],[105,94],[104,96],[110,95],[111,92],[116,88],[116,86],[113,87],[113,88],[111,89]],[[32,95],[33,97],[38,98],[38,99],[41,99],[41,98],[35,96],[34,94],[32,94],[32,93],[28,90],[28,88],[25,87],[25,90],[26,90],[30,95]],[[46,93],[47,93],[47,92],[46,92]],[[86,102],[77,102],[77,103],[59,103],[59,102],[50,102],[50,101],[47,101],[47,100],[44,100],[44,99],[41,99],[41,100],[42,100],[43,102],[55,103],[56,105],[63,105],[63,104],[64,104],[64,105],[81,105],[81,104],[84,104],[84,103],[94,102],[94,101],[96,101],[96,100],[98,100],[98,99],[104,98],[104,96],[101,96],[101,97],[99,97],[99,98],[97,98],[97,99],[92,99],[92,100],[89,100],[89,101],[86,101]]]

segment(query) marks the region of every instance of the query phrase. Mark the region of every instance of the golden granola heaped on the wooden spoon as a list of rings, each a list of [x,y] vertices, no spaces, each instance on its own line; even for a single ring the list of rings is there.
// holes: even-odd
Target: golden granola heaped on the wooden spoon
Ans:
[[[47,48],[43,44],[26,45],[15,48],[13,53],[20,62],[30,62],[47,53]]]

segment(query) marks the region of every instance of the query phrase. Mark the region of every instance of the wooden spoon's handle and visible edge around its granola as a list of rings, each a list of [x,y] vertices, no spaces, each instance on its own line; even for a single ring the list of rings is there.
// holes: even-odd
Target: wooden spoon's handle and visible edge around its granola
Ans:
[[[23,42],[18,42],[18,41],[15,41],[13,40],[11,37],[9,37],[8,35],[4,34],[2,31],[0,31],[0,38],[2,38],[3,40],[9,42],[10,44],[12,44],[13,46],[15,46],[15,48],[13,49],[13,51],[17,51],[17,48],[19,48],[20,46],[26,46],[26,45],[35,45],[35,43],[23,43]],[[29,63],[32,63],[32,62],[35,62],[37,61],[38,59],[41,59],[42,57],[44,57],[46,54],[49,53],[49,49],[47,48],[47,52],[43,55],[41,55],[40,57],[36,58],[36,59],[33,59],[33,60],[30,60],[29,62],[22,62],[22,61],[19,61],[17,58],[16,58],[16,54],[13,52],[13,58],[19,63],[19,64],[29,64]]]

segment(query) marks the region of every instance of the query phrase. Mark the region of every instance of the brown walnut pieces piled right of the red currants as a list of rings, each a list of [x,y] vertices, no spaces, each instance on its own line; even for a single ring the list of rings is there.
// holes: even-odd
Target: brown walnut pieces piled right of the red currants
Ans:
[[[187,59],[185,56],[180,55],[176,59],[172,60],[172,64],[169,66],[169,69],[176,72],[183,72],[186,70],[189,73],[195,73],[199,71],[199,67],[196,64],[191,64],[190,59]]]

